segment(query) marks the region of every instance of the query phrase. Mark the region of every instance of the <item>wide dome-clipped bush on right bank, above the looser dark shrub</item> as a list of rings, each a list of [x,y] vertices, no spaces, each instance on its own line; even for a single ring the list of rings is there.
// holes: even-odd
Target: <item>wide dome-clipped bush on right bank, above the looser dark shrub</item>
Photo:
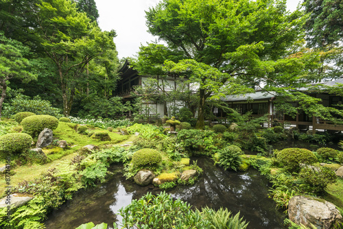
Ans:
[[[289,172],[300,171],[300,164],[313,164],[317,161],[314,153],[308,149],[287,148],[277,154],[277,159]]]

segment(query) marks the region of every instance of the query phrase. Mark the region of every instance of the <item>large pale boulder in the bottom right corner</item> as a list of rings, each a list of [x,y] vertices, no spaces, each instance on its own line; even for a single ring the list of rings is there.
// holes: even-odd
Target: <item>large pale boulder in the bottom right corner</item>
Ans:
[[[289,200],[288,217],[294,223],[318,229],[333,228],[342,221],[342,215],[333,204],[325,200],[296,195]]]

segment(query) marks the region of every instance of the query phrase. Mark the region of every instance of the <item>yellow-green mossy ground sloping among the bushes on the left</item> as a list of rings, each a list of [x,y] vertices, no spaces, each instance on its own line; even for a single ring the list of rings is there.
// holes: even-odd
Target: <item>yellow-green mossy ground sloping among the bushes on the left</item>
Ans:
[[[5,120],[4,123],[8,123],[5,125],[6,132],[19,132],[21,131],[21,126],[18,125],[13,120]],[[106,147],[106,145],[121,145],[128,141],[134,141],[137,136],[134,135],[120,135],[117,132],[109,132],[107,130],[102,130],[99,128],[90,128],[89,131],[97,132],[97,131],[106,131],[111,138],[111,141],[100,141],[98,139],[93,138],[92,136],[88,136],[88,134],[80,134],[76,131],[76,125],[73,123],[63,123],[60,122],[58,128],[54,130],[54,141],[64,140],[67,141],[69,147],[67,149],[62,149],[58,146],[48,146],[43,148],[43,152],[50,158],[50,162],[45,165],[38,165],[38,164],[31,164],[31,165],[21,165],[16,166],[12,169],[14,174],[10,177],[10,186],[15,186],[19,184],[19,182],[23,182],[23,180],[34,180],[34,178],[38,178],[40,173],[47,171],[47,169],[52,168],[59,168],[65,165],[66,162],[70,162],[70,160],[78,154],[78,149],[85,145],[97,145],[99,147]],[[32,146],[34,147],[34,145]],[[0,161],[0,167],[5,165],[5,161]],[[1,195],[5,191],[5,187],[8,186],[5,183],[4,176],[0,178],[0,193]]]

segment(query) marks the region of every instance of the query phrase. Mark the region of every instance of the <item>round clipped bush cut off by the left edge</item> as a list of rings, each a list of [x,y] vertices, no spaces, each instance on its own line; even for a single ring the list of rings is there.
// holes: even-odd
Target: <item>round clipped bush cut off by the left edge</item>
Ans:
[[[25,152],[32,143],[29,134],[14,133],[0,136],[0,153],[20,154]]]

